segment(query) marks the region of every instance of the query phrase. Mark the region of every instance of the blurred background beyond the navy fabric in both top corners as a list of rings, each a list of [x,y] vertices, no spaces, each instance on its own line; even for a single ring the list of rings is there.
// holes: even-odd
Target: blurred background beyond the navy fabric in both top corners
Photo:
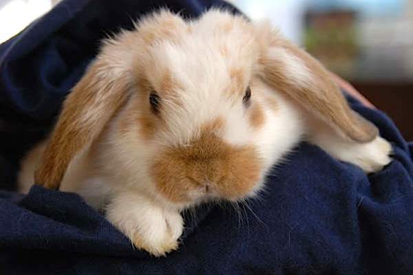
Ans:
[[[58,2],[0,0],[0,43]],[[413,140],[413,0],[230,2],[251,19],[269,19],[388,113]]]

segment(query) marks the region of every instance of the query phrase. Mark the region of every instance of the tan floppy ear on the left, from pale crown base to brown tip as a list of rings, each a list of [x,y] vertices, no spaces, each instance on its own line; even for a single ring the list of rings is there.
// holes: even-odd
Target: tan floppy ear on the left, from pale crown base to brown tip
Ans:
[[[138,21],[135,31],[122,31],[116,39],[104,41],[100,54],[63,104],[34,175],[36,184],[59,188],[76,153],[98,137],[125,102],[130,94],[133,67],[137,65],[134,54],[145,55],[147,47],[161,40],[178,41],[180,34],[186,31],[184,20],[164,9]]]

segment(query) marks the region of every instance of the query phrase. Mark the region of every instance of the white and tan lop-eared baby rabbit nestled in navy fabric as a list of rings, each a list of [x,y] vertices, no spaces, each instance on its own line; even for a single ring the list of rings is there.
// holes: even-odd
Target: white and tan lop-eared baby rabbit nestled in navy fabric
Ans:
[[[366,173],[391,162],[390,143],[330,73],[270,23],[162,9],[103,41],[23,159],[20,189],[77,192],[136,248],[165,256],[183,210],[257,196],[303,140]]]

